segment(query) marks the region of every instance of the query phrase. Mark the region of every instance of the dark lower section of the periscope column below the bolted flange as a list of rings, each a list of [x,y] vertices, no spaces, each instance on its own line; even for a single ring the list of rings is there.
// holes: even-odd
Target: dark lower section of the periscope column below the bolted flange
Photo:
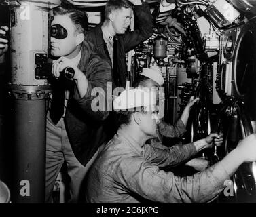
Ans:
[[[45,100],[15,100],[13,203],[43,203]]]

